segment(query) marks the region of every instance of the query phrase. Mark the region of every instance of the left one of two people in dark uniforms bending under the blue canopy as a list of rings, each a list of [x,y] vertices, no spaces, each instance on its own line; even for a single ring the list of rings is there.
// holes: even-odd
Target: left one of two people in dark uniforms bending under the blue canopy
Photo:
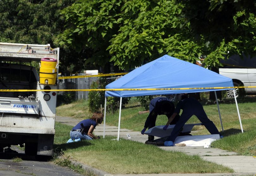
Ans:
[[[147,128],[153,128],[155,127],[155,121],[156,117],[158,115],[166,115],[168,119],[171,117],[171,115],[174,112],[174,104],[166,97],[157,97],[150,101],[149,104],[149,116],[147,117],[147,120],[145,122],[144,128],[141,131],[141,134],[144,134]],[[177,116],[174,117],[171,124],[176,124],[176,122],[179,120],[180,115],[177,114]],[[148,141],[153,141],[154,136],[148,137]]]

